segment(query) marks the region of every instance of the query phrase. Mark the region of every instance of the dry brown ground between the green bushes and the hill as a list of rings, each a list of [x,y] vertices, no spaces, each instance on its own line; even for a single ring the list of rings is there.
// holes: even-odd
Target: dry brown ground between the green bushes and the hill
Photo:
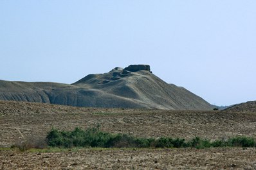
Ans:
[[[105,132],[137,137],[256,138],[256,113],[78,108],[2,101],[0,116],[0,147],[19,139],[45,137],[52,127],[73,130],[97,124]]]

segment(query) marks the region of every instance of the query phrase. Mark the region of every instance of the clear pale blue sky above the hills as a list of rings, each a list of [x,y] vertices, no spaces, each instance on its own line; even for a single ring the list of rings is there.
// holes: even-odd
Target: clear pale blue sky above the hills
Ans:
[[[256,100],[255,0],[1,0],[0,80],[149,64],[214,105]]]

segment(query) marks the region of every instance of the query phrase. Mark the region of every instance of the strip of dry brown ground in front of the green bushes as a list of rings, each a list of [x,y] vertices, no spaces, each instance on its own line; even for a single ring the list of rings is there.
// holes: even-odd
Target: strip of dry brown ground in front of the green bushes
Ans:
[[[0,151],[0,169],[256,169],[255,148]]]

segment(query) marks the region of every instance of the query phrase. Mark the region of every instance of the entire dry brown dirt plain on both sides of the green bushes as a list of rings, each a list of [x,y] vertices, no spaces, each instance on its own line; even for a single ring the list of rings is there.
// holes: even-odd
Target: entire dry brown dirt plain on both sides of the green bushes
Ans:
[[[136,137],[256,138],[255,112],[82,108],[0,101],[0,147],[52,128],[100,124],[111,133]],[[0,149],[0,169],[256,169],[255,148],[81,149],[55,153]]]

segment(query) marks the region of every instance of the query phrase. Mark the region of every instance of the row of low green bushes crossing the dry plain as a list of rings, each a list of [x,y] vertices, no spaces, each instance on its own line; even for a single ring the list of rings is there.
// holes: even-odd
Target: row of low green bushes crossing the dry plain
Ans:
[[[173,139],[170,137],[139,138],[127,134],[111,134],[100,131],[97,128],[82,130],[75,128],[73,131],[60,131],[52,128],[46,137],[48,146],[72,148],[72,147],[100,147],[100,148],[210,148],[210,147],[256,147],[256,141],[252,137],[232,137],[227,140],[201,139],[195,137],[185,139]]]

